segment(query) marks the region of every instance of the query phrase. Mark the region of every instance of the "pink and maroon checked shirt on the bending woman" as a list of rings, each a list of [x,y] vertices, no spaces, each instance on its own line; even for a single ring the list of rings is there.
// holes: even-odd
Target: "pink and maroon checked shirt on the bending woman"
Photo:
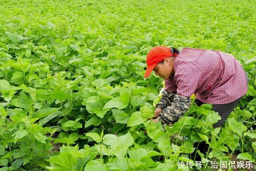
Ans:
[[[193,93],[203,103],[226,104],[247,93],[247,75],[230,54],[183,48],[174,61],[175,75],[165,80],[165,90],[180,96]]]

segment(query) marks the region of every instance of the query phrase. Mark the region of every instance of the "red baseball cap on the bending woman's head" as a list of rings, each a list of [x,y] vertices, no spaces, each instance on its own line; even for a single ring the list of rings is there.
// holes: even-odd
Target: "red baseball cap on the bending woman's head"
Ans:
[[[164,60],[164,58],[168,58],[173,56],[171,49],[166,46],[157,46],[155,48],[152,48],[147,55],[146,63],[147,63],[147,69],[144,75],[144,78],[147,78],[150,73],[152,73],[155,66]]]

